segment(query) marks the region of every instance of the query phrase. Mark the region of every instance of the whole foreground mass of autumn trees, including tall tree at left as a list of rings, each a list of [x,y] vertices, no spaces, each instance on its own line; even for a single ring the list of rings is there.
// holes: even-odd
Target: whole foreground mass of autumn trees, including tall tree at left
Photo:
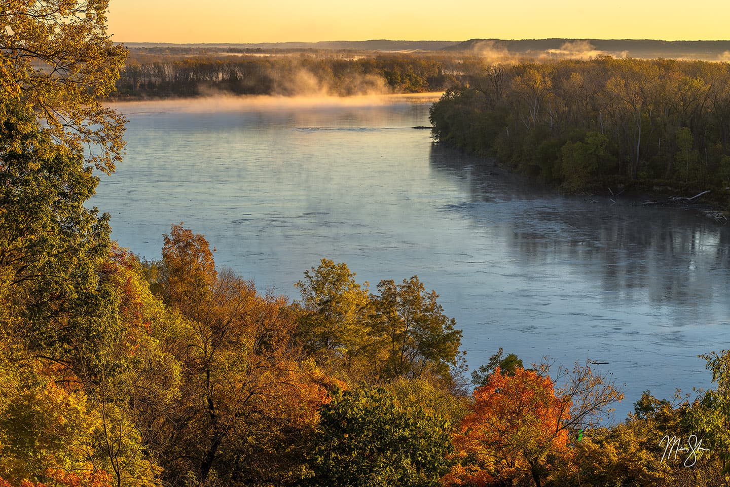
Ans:
[[[710,390],[647,392],[610,426],[622,394],[590,363],[500,349],[466,380],[418,277],[370,288],[323,259],[291,302],[182,224],[158,261],[118,248],[84,205],[123,149],[99,104],[123,63],[106,9],[1,11],[0,486],[726,485],[726,351],[704,357]]]

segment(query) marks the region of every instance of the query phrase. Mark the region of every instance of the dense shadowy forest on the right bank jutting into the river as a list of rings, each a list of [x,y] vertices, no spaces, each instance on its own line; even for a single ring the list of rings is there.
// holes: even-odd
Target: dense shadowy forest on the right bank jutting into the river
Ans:
[[[728,63],[493,64],[447,90],[431,123],[437,141],[565,191],[710,190],[730,202]]]

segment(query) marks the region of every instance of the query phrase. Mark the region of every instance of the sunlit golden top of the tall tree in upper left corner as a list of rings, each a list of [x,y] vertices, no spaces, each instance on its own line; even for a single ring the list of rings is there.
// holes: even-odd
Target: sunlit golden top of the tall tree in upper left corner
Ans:
[[[125,120],[99,99],[114,90],[126,50],[107,34],[108,3],[0,0],[0,99],[35,112],[56,142],[110,173]],[[0,119],[11,116],[0,107]]]

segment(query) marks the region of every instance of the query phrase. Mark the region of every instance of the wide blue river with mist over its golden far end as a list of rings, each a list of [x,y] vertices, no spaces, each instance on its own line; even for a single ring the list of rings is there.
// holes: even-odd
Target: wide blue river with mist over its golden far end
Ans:
[[[172,223],[216,263],[296,298],[321,258],[371,288],[418,275],[464,330],[469,366],[497,348],[550,356],[642,391],[710,386],[729,348],[730,228],[694,212],[559,196],[434,145],[426,99],[204,99],[118,104],[127,155],[92,204],[159,258]]]

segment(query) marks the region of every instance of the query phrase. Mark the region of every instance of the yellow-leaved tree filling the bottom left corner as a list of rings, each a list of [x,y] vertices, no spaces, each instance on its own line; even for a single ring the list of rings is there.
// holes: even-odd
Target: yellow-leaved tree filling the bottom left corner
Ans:
[[[20,350],[12,356],[0,351],[0,386],[5,393],[0,398],[0,485],[158,486],[153,473],[142,472],[154,467],[141,454],[129,456],[127,450],[123,456],[110,456],[97,441],[105,429],[116,425],[104,421],[99,402],[82,389],[69,387],[73,378],[58,374],[57,365],[24,356]],[[71,383],[80,380],[75,377]],[[121,437],[112,442],[136,447],[140,453],[139,442],[131,445]],[[119,460],[123,483],[112,480],[121,472],[119,464],[116,469],[114,465]]]

